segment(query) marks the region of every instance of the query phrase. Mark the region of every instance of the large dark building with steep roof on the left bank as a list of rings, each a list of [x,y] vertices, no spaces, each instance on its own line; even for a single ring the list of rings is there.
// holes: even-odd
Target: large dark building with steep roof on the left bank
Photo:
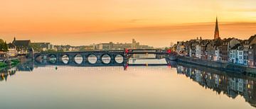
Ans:
[[[16,38],[14,38],[12,43],[16,46],[18,54],[27,54],[28,48],[31,45],[31,40],[16,40]]]

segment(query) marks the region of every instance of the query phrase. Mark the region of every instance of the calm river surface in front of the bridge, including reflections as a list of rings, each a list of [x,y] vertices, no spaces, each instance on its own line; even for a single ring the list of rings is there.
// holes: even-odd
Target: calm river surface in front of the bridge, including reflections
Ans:
[[[57,68],[27,63],[1,71],[0,108],[246,109],[256,105],[255,78],[201,67]]]

